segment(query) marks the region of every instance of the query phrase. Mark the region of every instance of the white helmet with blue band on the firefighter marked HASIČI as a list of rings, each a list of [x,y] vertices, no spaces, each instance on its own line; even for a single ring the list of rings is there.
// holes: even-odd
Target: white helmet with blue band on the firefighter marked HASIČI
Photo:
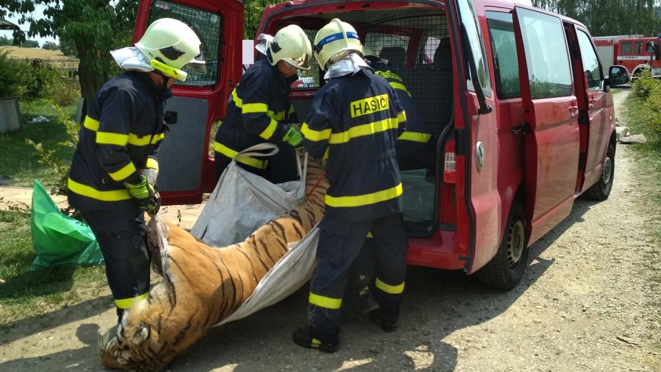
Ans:
[[[331,59],[337,60],[347,54],[362,52],[356,29],[337,18],[330,20],[315,37],[315,58],[322,70],[326,70],[326,64]]]

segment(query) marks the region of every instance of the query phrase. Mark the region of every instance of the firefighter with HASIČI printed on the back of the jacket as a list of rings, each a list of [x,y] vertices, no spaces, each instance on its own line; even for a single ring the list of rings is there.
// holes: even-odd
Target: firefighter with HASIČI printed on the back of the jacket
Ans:
[[[330,186],[319,223],[308,322],[294,331],[293,341],[333,353],[339,345],[348,269],[370,231],[377,246],[370,265],[375,267],[373,295],[379,308],[368,315],[384,331],[393,331],[399,318],[407,240],[395,141],[406,114],[388,81],[362,59],[361,43],[350,24],[333,19],[314,42],[327,82],[315,96],[302,133],[311,156],[326,159]]]

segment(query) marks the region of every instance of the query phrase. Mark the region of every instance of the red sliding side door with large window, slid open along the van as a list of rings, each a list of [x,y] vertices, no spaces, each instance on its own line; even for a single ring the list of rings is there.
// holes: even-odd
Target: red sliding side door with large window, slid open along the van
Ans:
[[[521,133],[532,244],[567,217],[574,204],[579,112],[562,21],[521,6],[514,8],[513,18],[525,110]]]

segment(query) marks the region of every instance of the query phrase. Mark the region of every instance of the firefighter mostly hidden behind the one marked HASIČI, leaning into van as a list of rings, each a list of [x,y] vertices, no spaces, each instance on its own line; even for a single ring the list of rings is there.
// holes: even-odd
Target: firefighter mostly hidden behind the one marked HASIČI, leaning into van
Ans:
[[[404,81],[399,77],[387,59],[381,59],[366,45],[363,45],[363,56],[375,74],[384,77],[397,92],[397,98],[406,111],[406,132],[397,137],[397,161],[403,169],[415,167],[420,157],[430,151],[431,131],[418,114],[413,96],[406,89]]]

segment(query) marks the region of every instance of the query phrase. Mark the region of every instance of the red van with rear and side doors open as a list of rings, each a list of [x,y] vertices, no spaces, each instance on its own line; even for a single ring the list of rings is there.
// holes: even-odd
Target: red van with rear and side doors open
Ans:
[[[134,41],[161,17],[191,25],[207,56],[206,73],[174,86],[166,110],[178,123],[160,152],[165,203],[200,203],[215,183],[211,127],[242,74],[244,9],[236,0],[143,0]],[[578,196],[608,198],[610,86],[629,76],[613,66],[618,81],[605,79],[585,25],[525,1],[300,0],[266,8],[258,34],[294,23],[313,40],[336,17],[395,65],[434,133],[435,154],[402,170],[410,264],[462,269],[510,289],[527,267],[527,247]],[[304,76],[312,83],[293,88],[300,118],[319,76],[315,65]]]

